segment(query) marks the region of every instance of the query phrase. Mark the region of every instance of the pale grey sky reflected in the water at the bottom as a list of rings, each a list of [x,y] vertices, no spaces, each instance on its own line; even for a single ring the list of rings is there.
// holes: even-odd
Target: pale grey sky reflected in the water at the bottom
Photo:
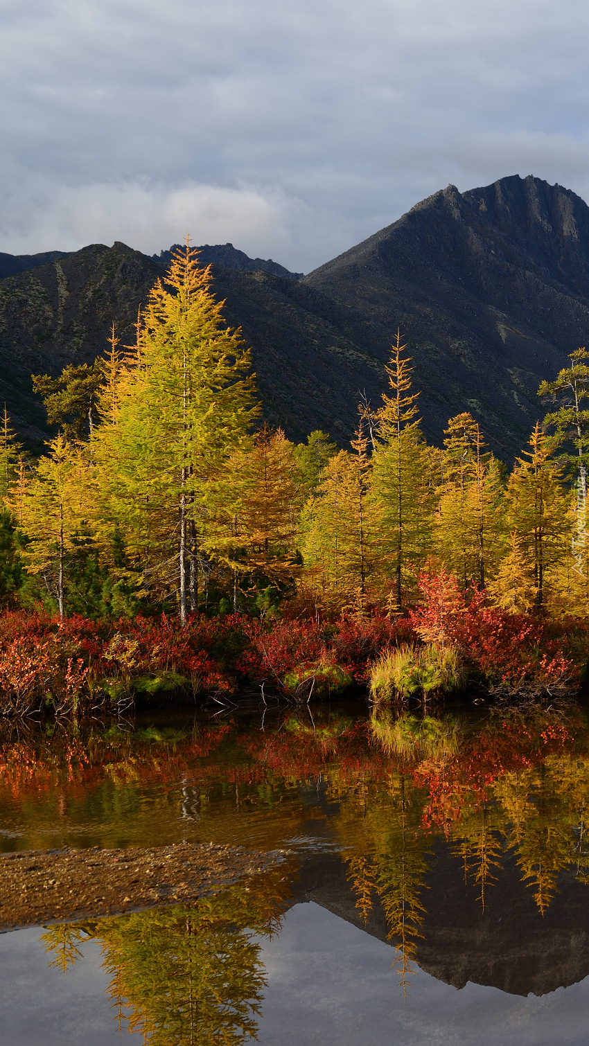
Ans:
[[[38,930],[0,936],[2,1046],[141,1042],[126,1030],[119,1039],[98,943],[82,945],[84,957],[64,975],[49,968],[39,936]],[[292,908],[280,933],[260,938],[260,947],[268,982],[260,1046],[587,1043],[589,978],[540,998],[520,998],[472,983],[457,991],[417,971],[404,1001],[390,946],[313,903]]]

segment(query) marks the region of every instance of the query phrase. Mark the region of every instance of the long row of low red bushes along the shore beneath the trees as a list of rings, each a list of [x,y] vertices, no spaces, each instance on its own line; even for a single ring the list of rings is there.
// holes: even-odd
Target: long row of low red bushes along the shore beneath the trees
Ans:
[[[472,677],[506,691],[535,686],[553,692],[580,679],[587,659],[582,622],[485,607],[484,593],[467,599],[444,571],[423,574],[420,591],[422,605],[406,618],[391,620],[375,610],[334,623],[194,616],[181,629],[166,615],[112,624],[8,612],[0,617],[0,712],[47,700],[56,708],[90,699],[108,704],[180,687],[231,691],[245,677],[281,688],[287,676],[307,678],[336,665],[343,669],[342,686],[349,677],[364,684],[370,663],[400,642],[455,644]]]

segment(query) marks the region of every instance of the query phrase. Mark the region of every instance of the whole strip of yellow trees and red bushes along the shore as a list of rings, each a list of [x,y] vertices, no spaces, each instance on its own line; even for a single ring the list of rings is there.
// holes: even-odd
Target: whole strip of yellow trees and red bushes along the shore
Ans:
[[[589,354],[507,473],[478,423],[428,446],[398,334],[349,450],[259,422],[209,268],[174,252],[134,346],[33,376],[58,434],[0,438],[0,714],[255,687],[425,703],[573,695],[588,658]],[[385,376],[383,376],[385,377]]]

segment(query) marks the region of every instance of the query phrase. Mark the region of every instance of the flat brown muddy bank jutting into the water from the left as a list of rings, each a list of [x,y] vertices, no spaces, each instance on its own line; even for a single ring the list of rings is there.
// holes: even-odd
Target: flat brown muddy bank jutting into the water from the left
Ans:
[[[2,855],[0,931],[190,901],[285,857],[213,843]]]

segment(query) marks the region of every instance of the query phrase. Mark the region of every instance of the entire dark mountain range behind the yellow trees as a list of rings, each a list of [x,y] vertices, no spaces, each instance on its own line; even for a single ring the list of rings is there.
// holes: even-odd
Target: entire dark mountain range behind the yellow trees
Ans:
[[[428,438],[471,410],[508,460],[543,413],[540,381],[587,337],[589,207],[531,176],[450,185],[298,279],[229,267],[231,245],[204,250],[226,252],[214,292],[252,345],[267,418],[294,438],[319,427],[346,442],[360,392],[380,402],[400,327]],[[164,259],[93,245],[0,282],[0,397],[25,436],[44,431],[30,373],[93,359],[113,320],[131,341]]]

